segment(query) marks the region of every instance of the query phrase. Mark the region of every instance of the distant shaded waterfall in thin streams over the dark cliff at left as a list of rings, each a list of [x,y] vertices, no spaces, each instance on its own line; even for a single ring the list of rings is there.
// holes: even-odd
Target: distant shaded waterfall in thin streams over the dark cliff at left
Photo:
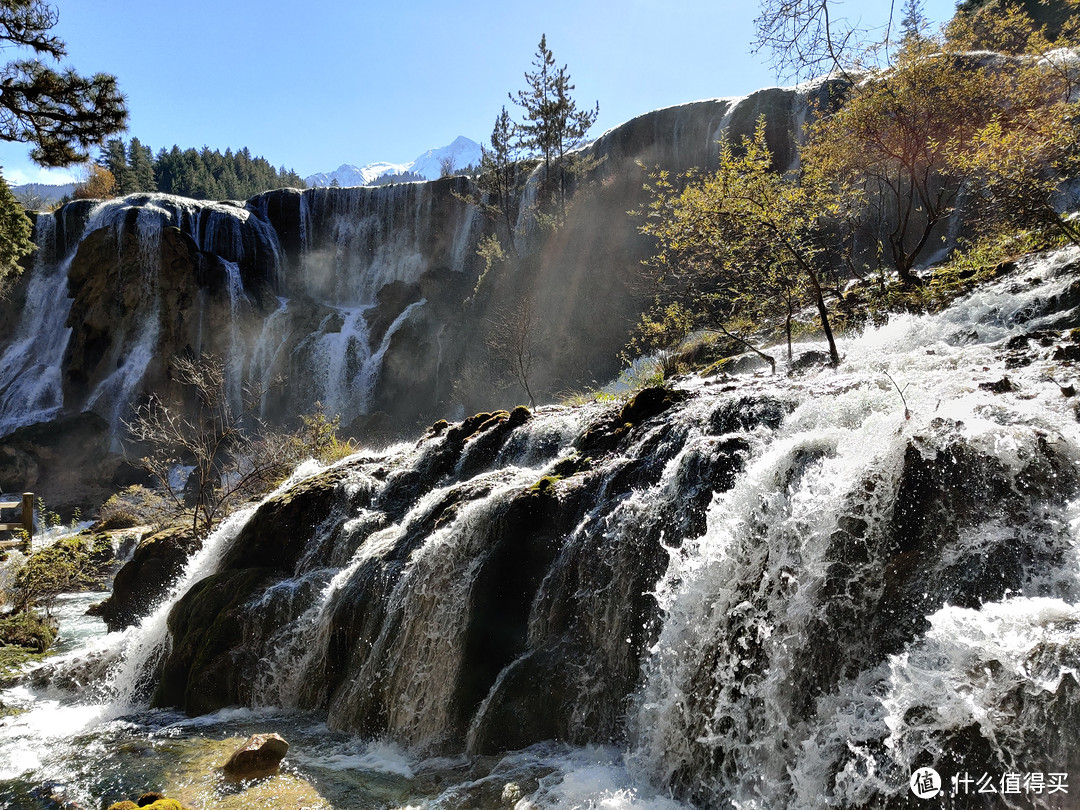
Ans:
[[[449,187],[431,186],[297,194],[300,245],[288,255],[275,227],[295,224],[271,224],[269,198],[244,207],[131,195],[97,205],[81,237],[54,233],[55,217],[41,215],[26,303],[0,357],[0,430],[93,410],[116,440],[132,404],[162,393],[170,359],[187,352],[225,361],[238,407],[245,386],[285,380],[287,404],[264,414],[274,420],[315,401],[346,424],[367,414],[390,341],[423,306],[417,295],[380,311],[373,333],[380,291],[432,267],[460,272],[474,242],[473,213],[440,213]]]

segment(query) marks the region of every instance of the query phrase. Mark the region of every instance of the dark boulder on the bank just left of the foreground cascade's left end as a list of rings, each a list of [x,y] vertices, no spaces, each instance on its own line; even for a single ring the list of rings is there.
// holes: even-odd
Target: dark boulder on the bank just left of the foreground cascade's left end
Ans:
[[[112,593],[94,608],[109,632],[137,624],[152,612],[184,570],[202,539],[189,526],[174,527],[139,540],[132,558],[117,571]]]

